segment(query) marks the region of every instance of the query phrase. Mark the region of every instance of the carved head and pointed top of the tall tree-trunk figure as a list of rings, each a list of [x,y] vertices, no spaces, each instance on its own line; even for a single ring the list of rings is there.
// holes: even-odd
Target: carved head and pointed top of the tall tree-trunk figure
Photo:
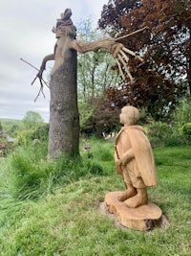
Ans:
[[[61,36],[66,36],[71,39],[76,37],[76,28],[71,19],[72,11],[71,9],[66,9],[65,12],[61,13],[61,19],[57,19],[55,28],[53,27],[53,33],[55,33],[56,38]]]

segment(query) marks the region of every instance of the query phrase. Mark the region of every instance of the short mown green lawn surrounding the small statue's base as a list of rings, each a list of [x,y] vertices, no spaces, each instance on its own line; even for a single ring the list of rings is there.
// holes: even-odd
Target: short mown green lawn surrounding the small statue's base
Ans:
[[[170,223],[165,228],[145,232],[121,229],[100,212],[99,202],[105,194],[124,189],[124,186],[121,176],[115,174],[114,143],[91,139],[88,144],[90,151],[83,151],[81,146],[81,173],[78,174],[79,169],[76,169],[75,175],[70,176],[70,172],[60,175],[60,180],[55,179],[51,191],[38,193],[35,199],[12,196],[10,177],[3,172],[8,160],[0,160],[4,180],[0,182],[0,255],[190,255],[191,147],[154,150],[159,185],[149,188],[148,194]],[[49,174],[52,174],[50,170],[55,172],[55,168],[61,170],[60,166],[66,169],[65,160],[54,166],[45,159],[40,160],[39,155],[36,163],[33,163],[34,169],[40,161],[45,165],[44,169],[38,169],[41,172],[47,170],[47,166]],[[76,165],[73,163],[70,170],[77,168]],[[88,168],[85,168],[86,165]],[[46,176],[42,175],[39,179],[46,180]],[[48,181],[49,178],[44,181],[46,186]],[[40,190],[40,187],[36,186],[35,189]]]

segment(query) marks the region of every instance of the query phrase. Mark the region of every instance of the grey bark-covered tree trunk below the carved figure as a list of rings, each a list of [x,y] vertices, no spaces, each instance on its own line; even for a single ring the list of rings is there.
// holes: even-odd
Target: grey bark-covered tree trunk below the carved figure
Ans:
[[[50,91],[49,157],[78,154],[79,115],[76,89],[76,51],[67,49],[64,62],[53,72]]]

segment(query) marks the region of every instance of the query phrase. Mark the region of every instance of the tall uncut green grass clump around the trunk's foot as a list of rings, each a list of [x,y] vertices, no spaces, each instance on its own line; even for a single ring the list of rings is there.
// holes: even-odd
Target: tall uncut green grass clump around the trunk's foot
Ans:
[[[107,163],[113,161],[113,155],[105,150],[105,145],[100,149],[100,144],[101,140],[97,145],[93,140],[89,151],[81,147],[80,157],[62,155],[57,161],[47,159],[46,144],[17,148],[0,167],[2,194],[17,199],[39,198],[52,193],[57,186],[85,176],[106,175]]]

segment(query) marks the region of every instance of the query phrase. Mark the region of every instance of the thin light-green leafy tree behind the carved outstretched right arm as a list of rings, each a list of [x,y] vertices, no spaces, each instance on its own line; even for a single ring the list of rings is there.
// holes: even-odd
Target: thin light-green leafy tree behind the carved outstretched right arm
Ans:
[[[95,41],[105,36],[104,32],[93,28],[93,21],[87,19],[78,26],[80,40]],[[82,102],[94,101],[102,96],[108,84],[115,85],[119,81],[117,71],[112,67],[115,59],[105,50],[89,52],[77,57],[78,98]]]

